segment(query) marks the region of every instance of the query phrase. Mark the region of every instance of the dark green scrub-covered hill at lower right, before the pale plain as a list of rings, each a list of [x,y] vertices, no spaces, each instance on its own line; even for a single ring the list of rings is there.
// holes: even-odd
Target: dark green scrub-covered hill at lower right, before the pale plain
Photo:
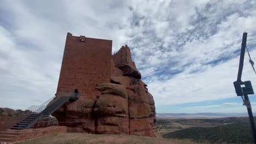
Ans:
[[[187,128],[165,134],[162,137],[181,140],[191,139],[195,142],[208,141],[210,143],[253,143],[252,130],[248,122],[210,128]]]

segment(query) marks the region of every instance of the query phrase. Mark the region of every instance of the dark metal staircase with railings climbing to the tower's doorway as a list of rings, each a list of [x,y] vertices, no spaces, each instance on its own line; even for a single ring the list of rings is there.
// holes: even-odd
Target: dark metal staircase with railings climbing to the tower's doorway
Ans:
[[[34,111],[27,110],[27,111],[30,111],[28,116],[26,116],[25,118],[24,118],[24,116],[21,117],[22,120],[20,118],[21,121],[19,120],[18,121],[19,123],[15,122],[16,124],[14,123],[15,125],[13,125],[13,127],[11,127],[10,129],[13,129],[13,130],[28,129],[34,123],[36,123],[40,118],[50,116],[51,113],[53,113],[54,111],[59,109],[64,103],[66,103],[66,101],[77,100],[77,99],[78,98],[74,98],[74,97],[60,97],[60,98],[52,101],[53,98],[51,98],[50,100],[46,101],[44,104],[42,104],[40,106],[31,106],[31,107],[36,107],[37,110],[34,110]],[[16,119],[16,121],[17,121],[17,119]]]

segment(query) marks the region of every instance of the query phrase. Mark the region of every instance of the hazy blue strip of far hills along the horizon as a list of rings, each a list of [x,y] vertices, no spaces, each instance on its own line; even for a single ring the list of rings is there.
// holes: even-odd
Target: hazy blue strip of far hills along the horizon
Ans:
[[[255,116],[256,113],[253,115]],[[248,113],[156,113],[156,117],[169,118],[220,118],[220,117],[248,117]]]

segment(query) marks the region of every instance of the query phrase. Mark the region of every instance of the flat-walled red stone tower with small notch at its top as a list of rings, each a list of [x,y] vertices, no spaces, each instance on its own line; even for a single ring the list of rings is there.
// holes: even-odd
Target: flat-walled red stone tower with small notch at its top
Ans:
[[[57,97],[61,92],[78,90],[79,99],[96,100],[100,92],[97,83],[110,82],[110,58],[112,40],[75,37],[67,34],[57,87]]]

